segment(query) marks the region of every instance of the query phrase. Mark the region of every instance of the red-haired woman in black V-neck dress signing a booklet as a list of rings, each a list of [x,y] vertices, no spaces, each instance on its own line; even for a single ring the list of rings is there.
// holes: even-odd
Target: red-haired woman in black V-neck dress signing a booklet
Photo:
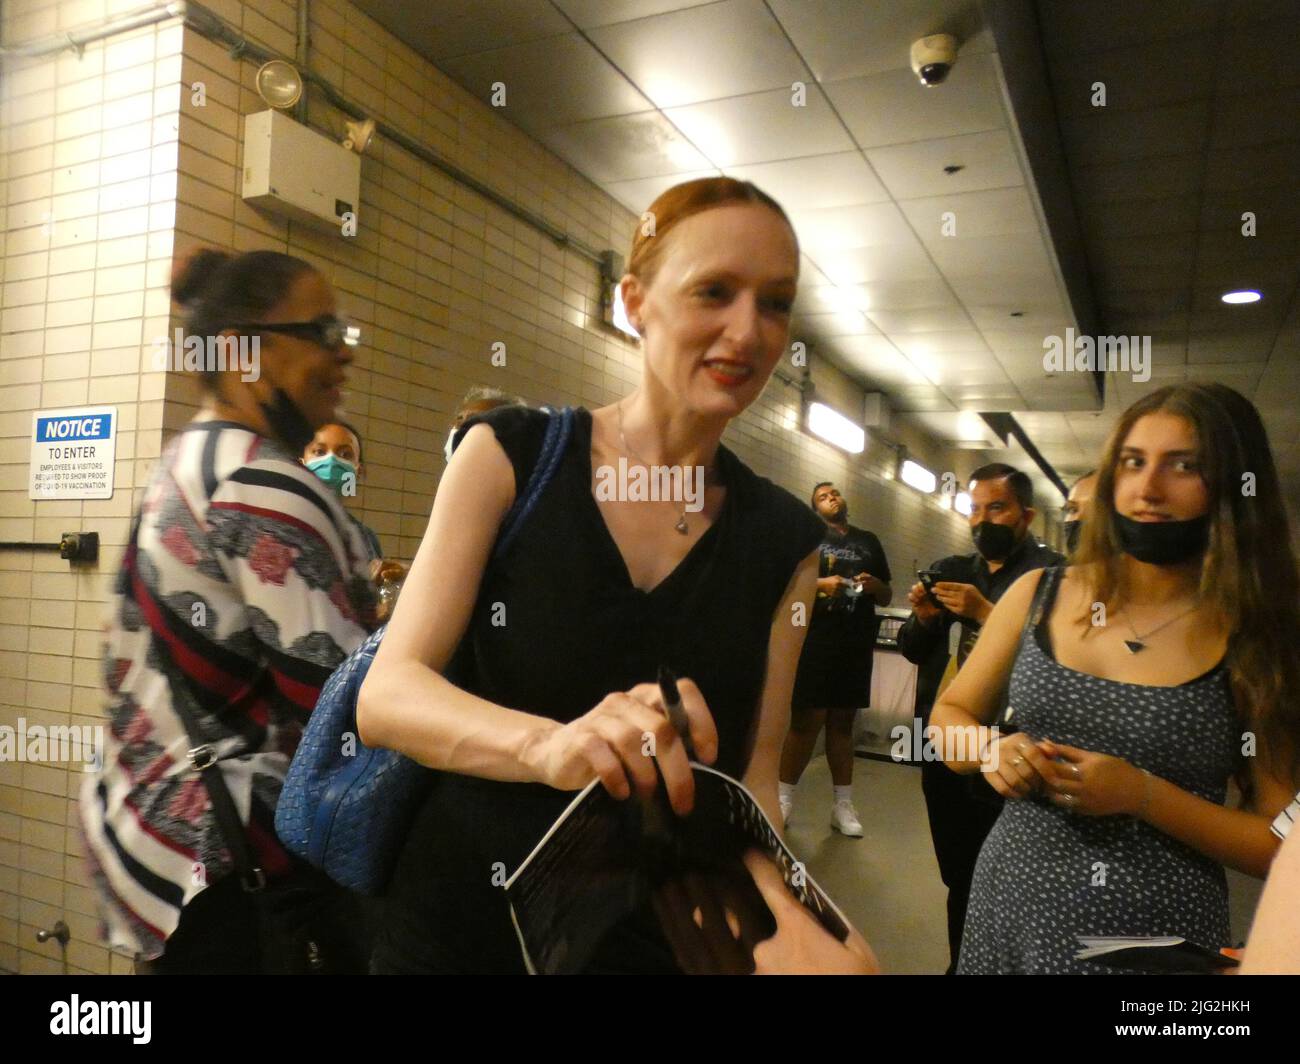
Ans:
[[[733,178],[675,186],[649,209],[620,281],[638,386],[575,411],[546,490],[490,562],[551,415],[502,407],[464,423],[361,687],[361,740],[442,770],[389,884],[376,972],[523,972],[502,883],[593,780],[616,799],[662,786],[689,814],[660,665],[680,676],[697,758],[779,816],[796,622],[823,524],[722,436],[786,350],[798,243],[780,206]],[[701,492],[598,492],[620,462],[676,468]],[[590,970],[681,970],[649,900]]]

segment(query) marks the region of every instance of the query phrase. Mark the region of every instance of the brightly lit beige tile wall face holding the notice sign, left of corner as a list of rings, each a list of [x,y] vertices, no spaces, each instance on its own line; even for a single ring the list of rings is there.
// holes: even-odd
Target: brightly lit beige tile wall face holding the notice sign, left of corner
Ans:
[[[6,3],[31,40],[138,3]],[[6,64],[0,78],[0,539],[98,531],[100,563],[0,552],[0,725],[99,725],[99,640],[135,485],[159,454],[164,379],[142,339],[166,323],[182,31],[177,23]],[[113,498],[32,502],[35,410],[118,411]],[[0,762],[0,968],[60,972],[38,927],[72,929],[70,970],[122,970],[98,943],[74,827],[78,765]]]

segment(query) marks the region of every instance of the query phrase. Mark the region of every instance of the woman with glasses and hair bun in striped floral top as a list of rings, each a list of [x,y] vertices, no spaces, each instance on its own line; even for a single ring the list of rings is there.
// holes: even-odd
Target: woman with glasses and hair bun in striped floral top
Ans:
[[[273,829],[320,688],[374,624],[365,544],[299,463],[351,349],[329,284],[289,255],[199,250],[172,294],[205,397],[153,468],[114,588],[109,727],[81,800],[108,942],[155,973],[355,969],[348,900]],[[208,360],[231,345],[252,358]]]

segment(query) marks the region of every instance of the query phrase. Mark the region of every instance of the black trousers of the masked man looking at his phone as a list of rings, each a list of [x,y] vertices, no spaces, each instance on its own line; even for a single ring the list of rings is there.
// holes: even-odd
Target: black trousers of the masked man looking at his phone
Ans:
[[[975,861],[993,822],[1002,812],[1002,799],[976,773],[958,775],[940,761],[923,761],[920,788],[926,795],[930,838],[935,843],[939,874],[948,887],[946,974],[957,970],[966,926]],[[987,793],[985,793],[987,792]]]

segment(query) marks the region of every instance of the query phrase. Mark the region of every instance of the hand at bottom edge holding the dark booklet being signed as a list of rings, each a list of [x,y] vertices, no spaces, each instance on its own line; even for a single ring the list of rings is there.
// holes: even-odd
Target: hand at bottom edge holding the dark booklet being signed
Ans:
[[[852,927],[838,942],[790,894],[776,865],[758,851],[745,868],[776,920],[776,934],[754,947],[757,976],[876,976],[880,964],[867,940]]]

